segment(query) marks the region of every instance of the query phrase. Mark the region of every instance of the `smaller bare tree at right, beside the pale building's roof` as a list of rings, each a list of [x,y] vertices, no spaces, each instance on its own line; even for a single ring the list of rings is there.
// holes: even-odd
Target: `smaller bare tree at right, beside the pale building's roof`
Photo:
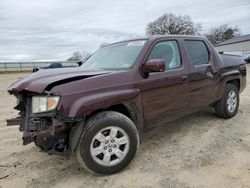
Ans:
[[[240,35],[240,29],[235,26],[231,27],[227,24],[221,25],[219,27],[211,28],[205,36],[207,39],[213,44],[219,44],[221,42],[224,42],[228,39],[231,39],[233,37]]]

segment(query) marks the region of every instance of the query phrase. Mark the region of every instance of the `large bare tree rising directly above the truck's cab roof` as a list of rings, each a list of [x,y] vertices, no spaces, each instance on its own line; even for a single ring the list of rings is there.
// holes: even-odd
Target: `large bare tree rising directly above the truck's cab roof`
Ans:
[[[189,16],[167,13],[147,25],[146,35],[197,35],[200,31],[201,24],[195,24]]]

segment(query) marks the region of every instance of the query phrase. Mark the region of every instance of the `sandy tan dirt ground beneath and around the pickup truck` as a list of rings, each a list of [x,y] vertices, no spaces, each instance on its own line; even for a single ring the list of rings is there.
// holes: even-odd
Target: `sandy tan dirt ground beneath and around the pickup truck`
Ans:
[[[248,87],[238,114],[224,120],[213,110],[190,115],[144,133],[130,165],[111,176],[79,168],[73,156],[49,156],[22,145],[15,99],[6,88],[25,74],[0,74],[0,188],[2,187],[166,187],[250,188],[250,65]]]

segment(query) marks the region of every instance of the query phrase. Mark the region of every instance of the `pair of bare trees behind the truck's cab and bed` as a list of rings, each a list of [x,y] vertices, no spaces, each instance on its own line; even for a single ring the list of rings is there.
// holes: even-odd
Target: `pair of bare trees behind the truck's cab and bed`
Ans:
[[[202,25],[194,23],[188,15],[166,13],[150,22],[146,27],[146,35],[203,35],[213,44],[219,44],[240,35],[237,26],[227,24],[210,28],[207,33],[201,33]]]

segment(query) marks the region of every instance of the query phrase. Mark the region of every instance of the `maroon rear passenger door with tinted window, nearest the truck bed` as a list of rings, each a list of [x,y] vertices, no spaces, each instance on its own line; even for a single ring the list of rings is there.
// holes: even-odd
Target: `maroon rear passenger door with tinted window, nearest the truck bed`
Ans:
[[[197,111],[214,102],[216,80],[213,72],[211,52],[202,40],[184,40],[190,73],[188,87],[190,92],[190,112]]]

